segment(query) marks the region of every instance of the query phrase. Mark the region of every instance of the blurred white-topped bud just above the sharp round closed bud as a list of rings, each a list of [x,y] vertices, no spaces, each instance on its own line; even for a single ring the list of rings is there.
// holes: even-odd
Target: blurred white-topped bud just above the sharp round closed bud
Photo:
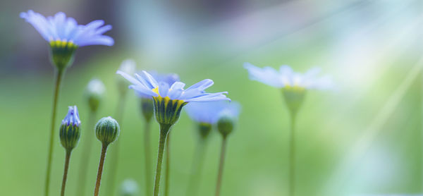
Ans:
[[[90,106],[91,111],[97,111],[99,104],[102,101],[104,94],[104,84],[102,80],[92,79],[85,89],[85,96],[87,97],[88,106]]]

